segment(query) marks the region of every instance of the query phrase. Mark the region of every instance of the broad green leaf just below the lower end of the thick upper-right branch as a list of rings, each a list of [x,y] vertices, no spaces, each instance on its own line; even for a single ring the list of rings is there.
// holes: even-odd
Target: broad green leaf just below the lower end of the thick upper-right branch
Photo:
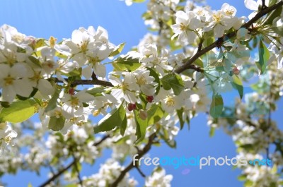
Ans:
[[[176,73],[164,76],[161,78],[161,83],[164,90],[170,90],[172,88],[175,95],[179,95],[185,88],[181,76]]]

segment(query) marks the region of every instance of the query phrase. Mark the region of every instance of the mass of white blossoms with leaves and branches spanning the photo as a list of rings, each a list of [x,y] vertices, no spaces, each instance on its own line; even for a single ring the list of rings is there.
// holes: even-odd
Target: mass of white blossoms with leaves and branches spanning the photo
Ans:
[[[1,158],[0,174],[19,168],[39,172],[50,166],[60,171],[72,158],[77,163],[64,174],[65,181],[108,186],[123,173],[127,157],[161,140],[175,147],[180,129],[201,112],[210,114],[212,133],[223,127],[231,135],[239,155],[262,157],[260,152],[273,144],[277,149],[267,157],[282,166],[283,134],[270,113],[283,95],[283,13],[246,22],[279,2],[246,0],[253,13],[245,18],[237,17],[236,8],[226,3],[214,11],[202,1],[187,1],[185,6],[179,0],[149,1],[143,18],[158,35],[146,34],[126,54],[120,54],[125,44],[112,44],[100,26],[79,28],[57,42],[2,25],[0,140],[1,147],[15,146],[13,155]],[[258,57],[253,60],[250,49],[255,47]],[[243,81],[249,83],[257,74],[258,82],[251,85],[255,92],[243,95]],[[235,107],[224,107],[221,95],[233,89],[245,102],[238,99]],[[36,113],[40,123],[29,126],[26,120]],[[95,125],[94,117],[100,119]],[[25,135],[20,123],[34,135]],[[21,147],[28,147],[28,153]],[[97,174],[82,179],[75,174],[80,164],[101,157],[103,148],[112,154]],[[281,182],[275,167],[241,169],[250,186]],[[145,186],[171,186],[172,179],[156,168]],[[125,174],[119,185],[137,186],[137,181]]]

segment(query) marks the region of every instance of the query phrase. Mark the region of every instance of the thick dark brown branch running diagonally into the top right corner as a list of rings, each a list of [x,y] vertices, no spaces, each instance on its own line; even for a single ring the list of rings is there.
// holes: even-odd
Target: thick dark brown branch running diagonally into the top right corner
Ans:
[[[255,17],[253,17],[247,23],[243,24],[241,28],[249,28],[251,25],[253,25],[253,23],[255,23],[257,20],[262,18],[262,16],[265,16],[267,13],[274,11],[276,8],[279,8],[282,5],[283,5],[283,1],[280,1],[279,3],[277,3],[273,6],[262,9],[261,11],[259,11],[255,15]],[[186,69],[190,68],[190,65],[193,64],[200,56],[202,56],[203,54],[206,54],[207,52],[211,51],[215,47],[219,46],[220,42],[225,42],[225,41],[229,40],[231,37],[235,37],[235,36],[236,36],[236,32],[230,32],[230,33],[224,35],[224,37],[219,38],[214,43],[212,43],[209,46],[205,47],[204,49],[198,51],[183,66],[180,66],[179,68],[177,68],[175,70],[175,73],[182,73]]]

